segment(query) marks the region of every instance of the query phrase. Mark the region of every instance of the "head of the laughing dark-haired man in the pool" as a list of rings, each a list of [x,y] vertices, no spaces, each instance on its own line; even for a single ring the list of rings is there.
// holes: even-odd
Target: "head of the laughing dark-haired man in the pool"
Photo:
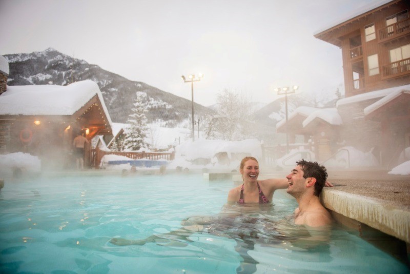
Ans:
[[[327,171],[324,166],[319,165],[317,162],[308,162],[302,159],[296,162],[296,167],[286,178],[290,182],[289,193],[296,194],[304,191],[304,185],[313,186],[313,194],[319,197],[327,180]]]

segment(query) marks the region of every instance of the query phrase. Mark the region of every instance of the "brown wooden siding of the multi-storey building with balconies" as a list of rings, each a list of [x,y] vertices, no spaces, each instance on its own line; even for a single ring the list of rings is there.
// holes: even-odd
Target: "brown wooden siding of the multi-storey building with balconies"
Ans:
[[[410,1],[392,1],[315,35],[341,47],[346,97],[410,84],[410,66],[407,69],[407,63],[392,64],[389,56],[391,49],[410,44],[410,19],[386,26],[387,17],[404,10],[410,12]],[[376,38],[366,42],[364,28],[371,24],[375,26]],[[361,45],[356,45],[358,35]],[[355,41],[355,45],[351,45],[351,41]],[[379,73],[370,76],[367,57],[374,54],[378,57]],[[358,67],[363,68],[363,73],[354,79],[354,68]]]

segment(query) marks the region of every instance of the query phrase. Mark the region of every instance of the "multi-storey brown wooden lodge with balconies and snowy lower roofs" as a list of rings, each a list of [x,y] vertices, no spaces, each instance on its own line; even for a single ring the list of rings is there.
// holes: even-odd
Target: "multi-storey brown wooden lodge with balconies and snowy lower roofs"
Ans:
[[[408,0],[372,3],[314,35],[341,49],[345,86],[332,114],[291,113],[290,133],[314,139],[316,160],[342,146],[373,148],[380,166],[390,168],[410,147],[409,11]],[[341,121],[332,120],[334,111]],[[285,132],[283,124],[278,132]]]

